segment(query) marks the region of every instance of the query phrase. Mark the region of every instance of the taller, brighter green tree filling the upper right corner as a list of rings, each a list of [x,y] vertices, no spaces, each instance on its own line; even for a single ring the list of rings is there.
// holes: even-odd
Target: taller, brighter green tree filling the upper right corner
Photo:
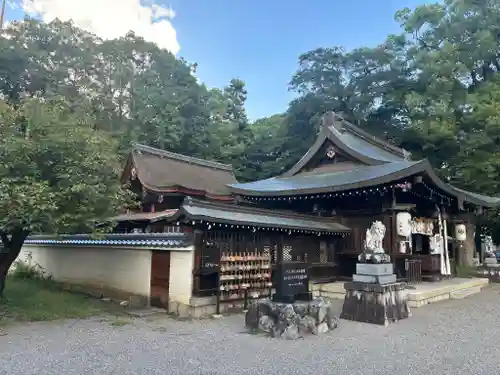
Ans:
[[[401,100],[410,125],[400,136],[401,145],[428,157],[443,177],[459,186],[488,193],[481,181],[491,173],[474,173],[481,170],[472,167],[480,158],[466,150],[471,142],[489,142],[485,122],[477,121],[483,112],[477,98],[484,97],[483,86],[495,86],[489,82],[499,74],[500,2],[447,0],[403,9],[396,19],[404,29],[406,60],[413,72]],[[483,157],[484,166],[496,163],[494,152]]]

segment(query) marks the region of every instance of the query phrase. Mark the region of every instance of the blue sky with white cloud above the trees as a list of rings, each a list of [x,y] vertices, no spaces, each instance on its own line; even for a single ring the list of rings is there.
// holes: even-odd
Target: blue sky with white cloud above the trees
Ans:
[[[375,46],[398,33],[398,9],[436,0],[7,0],[6,20],[55,17],[103,38],[133,30],[189,62],[208,87],[245,81],[255,120],[284,112],[300,54]]]

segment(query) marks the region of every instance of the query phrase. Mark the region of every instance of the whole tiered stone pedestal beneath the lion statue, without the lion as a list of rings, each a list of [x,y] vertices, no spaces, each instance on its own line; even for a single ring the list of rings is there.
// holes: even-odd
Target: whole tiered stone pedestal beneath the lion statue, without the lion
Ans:
[[[406,283],[396,282],[391,263],[358,263],[344,288],[341,319],[386,326],[411,316]]]

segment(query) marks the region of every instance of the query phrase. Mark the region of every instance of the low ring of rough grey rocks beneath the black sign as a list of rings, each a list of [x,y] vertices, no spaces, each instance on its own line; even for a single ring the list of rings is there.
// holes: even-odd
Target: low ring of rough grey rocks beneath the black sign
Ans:
[[[319,335],[338,327],[330,300],[319,297],[293,304],[263,299],[250,307],[245,326],[251,333],[295,340],[306,334]]]

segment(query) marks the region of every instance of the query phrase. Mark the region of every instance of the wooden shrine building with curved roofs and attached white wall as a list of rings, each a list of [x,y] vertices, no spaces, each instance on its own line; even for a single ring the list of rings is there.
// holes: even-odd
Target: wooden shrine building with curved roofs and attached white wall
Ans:
[[[476,215],[500,204],[447,184],[426,159],[333,113],[280,176],[238,183],[230,165],[136,145],[122,182],[141,206],[112,218],[113,233],[32,236],[23,254],[54,279],[91,280],[103,295],[135,296],[184,316],[272,294],[282,262],[304,265],[299,286],[349,280],[374,221],[385,225],[399,280],[452,277],[457,261],[474,256],[467,249]],[[110,269],[119,272],[111,277]]]

